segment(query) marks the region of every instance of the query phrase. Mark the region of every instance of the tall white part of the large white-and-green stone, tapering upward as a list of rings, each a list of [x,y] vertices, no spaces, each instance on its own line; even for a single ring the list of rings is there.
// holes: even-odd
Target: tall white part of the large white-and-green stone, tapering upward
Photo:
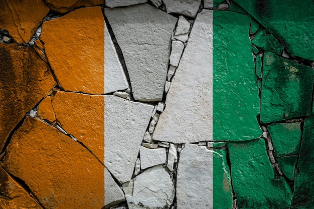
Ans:
[[[212,20],[210,10],[203,10],[196,18],[153,140],[192,143],[213,138]]]

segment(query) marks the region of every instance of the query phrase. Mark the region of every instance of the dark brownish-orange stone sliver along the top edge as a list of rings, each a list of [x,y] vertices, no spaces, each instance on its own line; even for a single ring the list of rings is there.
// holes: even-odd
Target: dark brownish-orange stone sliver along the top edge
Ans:
[[[92,7],[96,5],[102,5],[104,0],[45,0],[45,2],[51,10],[57,11],[59,13],[66,13],[82,6]]]

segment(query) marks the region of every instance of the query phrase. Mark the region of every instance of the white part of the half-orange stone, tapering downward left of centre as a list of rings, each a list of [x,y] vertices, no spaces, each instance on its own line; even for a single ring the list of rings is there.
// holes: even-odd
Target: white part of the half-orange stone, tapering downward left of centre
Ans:
[[[132,177],[154,106],[105,96],[105,166],[121,183]]]

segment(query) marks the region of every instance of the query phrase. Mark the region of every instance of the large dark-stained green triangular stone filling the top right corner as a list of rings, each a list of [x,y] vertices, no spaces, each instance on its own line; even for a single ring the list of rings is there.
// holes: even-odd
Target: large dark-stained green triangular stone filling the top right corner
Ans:
[[[283,43],[292,56],[314,60],[312,0],[234,0]]]

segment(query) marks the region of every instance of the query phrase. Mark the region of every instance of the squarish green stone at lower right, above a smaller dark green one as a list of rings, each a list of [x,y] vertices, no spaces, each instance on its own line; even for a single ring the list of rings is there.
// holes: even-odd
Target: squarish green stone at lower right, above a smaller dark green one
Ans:
[[[276,157],[299,153],[301,123],[273,123],[267,126]]]

